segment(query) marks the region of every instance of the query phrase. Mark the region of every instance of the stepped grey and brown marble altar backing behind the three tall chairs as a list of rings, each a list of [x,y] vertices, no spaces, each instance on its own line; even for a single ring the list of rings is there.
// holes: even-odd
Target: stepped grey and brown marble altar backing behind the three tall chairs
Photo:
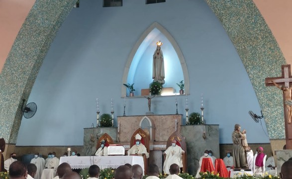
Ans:
[[[132,134],[141,128],[149,137],[148,164],[156,164],[160,171],[164,163],[163,152],[174,132],[180,133],[186,141],[189,174],[195,175],[199,158],[205,150],[212,150],[216,158],[220,157],[219,125],[184,125],[186,119],[182,114],[118,116],[115,120],[117,126],[114,127],[84,129],[84,155],[92,156],[95,153],[97,141],[104,133],[112,138],[114,144],[124,146],[127,151],[131,147]]]

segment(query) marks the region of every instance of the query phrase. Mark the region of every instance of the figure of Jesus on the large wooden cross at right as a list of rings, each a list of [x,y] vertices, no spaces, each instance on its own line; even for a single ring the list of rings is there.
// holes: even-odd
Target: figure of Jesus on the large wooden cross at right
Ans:
[[[292,99],[291,99],[291,91],[292,87],[288,88],[286,86],[280,87],[278,84],[276,84],[273,80],[272,83],[279,89],[283,90],[284,93],[284,103],[285,107],[288,110],[288,124],[291,124],[291,117],[292,117]]]

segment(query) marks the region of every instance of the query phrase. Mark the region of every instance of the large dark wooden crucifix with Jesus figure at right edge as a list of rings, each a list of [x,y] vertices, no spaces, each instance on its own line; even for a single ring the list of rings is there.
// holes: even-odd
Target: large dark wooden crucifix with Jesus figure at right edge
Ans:
[[[266,86],[276,86],[283,91],[284,101],[284,119],[285,119],[285,134],[286,147],[292,149],[292,76],[291,66],[282,65],[282,76],[275,78],[266,78]]]

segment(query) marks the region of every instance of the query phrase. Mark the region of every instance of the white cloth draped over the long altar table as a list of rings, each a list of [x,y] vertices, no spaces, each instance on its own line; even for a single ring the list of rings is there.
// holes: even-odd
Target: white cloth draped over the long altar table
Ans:
[[[62,163],[70,164],[72,169],[89,168],[97,165],[100,170],[105,168],[118,168],[121,165],[138,164],[144,169],[142,156],[86,156],[86,157],[60,157],[59,165]]]

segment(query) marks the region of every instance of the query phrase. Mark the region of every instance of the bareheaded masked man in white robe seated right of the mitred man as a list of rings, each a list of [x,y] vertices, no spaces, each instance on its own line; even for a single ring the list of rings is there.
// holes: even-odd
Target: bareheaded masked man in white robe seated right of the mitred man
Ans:
[[[185,151],[177,145],[177,141],[174,139],[166,151],[163,153],[166,155],[164,164],[163,164],[163,172],[164,174],[170,174],[170,166],[172,164],[177,164],[180,168],[183,167],[182,155]]]

